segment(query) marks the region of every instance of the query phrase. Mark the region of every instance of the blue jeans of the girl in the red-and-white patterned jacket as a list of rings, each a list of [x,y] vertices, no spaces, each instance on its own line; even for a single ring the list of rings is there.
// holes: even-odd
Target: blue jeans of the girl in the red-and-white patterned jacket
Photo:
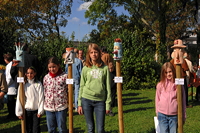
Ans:
[[[57,133],[56,127],[58,127],[59,133],[67,133],[66,117],[67,108],[56,112],[46,111],[48,132]]]

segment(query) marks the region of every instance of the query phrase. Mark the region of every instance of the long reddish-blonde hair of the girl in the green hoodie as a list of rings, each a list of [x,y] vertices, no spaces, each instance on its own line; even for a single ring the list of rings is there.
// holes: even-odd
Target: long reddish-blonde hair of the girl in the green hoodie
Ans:
[[[98,52],[98,54],[99,54],[99,57],[98,57],[98,59],[97,59],[97,64],[96,64],[96,66],[97,66],[97,67],[103,66],[103,61],[101,60],[101,49],[100,49],[99,46],[98,46],[97,44],[95,44],[95,43],[89,44],[89,46],[88,46],[87,53],[86,53],[85,65],[86,65],[87,67],[92,67],[92,65],[93,65],[92,60],[91,60],[91,58],[90,58],[90,51],[91,51],[92,49],[96,50],[96,51]]]

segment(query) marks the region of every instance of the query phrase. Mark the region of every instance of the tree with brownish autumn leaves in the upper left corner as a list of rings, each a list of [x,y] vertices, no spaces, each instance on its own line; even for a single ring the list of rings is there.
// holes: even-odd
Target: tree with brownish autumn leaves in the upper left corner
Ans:
[[[56,34],[59,38],[59,28],[66,26],[72,2],[73,0],[4,0],[0,5],[1,29],[13,28],[22,38],[41,39],[49,34]]]

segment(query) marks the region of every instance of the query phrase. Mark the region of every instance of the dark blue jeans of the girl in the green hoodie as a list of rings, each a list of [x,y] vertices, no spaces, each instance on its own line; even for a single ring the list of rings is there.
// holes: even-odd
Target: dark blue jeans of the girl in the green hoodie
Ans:
[[[92,101],[86,98],[81,99],[83,113],[86,119],[88,133],[95,132],[94,113],[96,117],[96,127],[98,133],[104,133],[105,124],[105,101]]]

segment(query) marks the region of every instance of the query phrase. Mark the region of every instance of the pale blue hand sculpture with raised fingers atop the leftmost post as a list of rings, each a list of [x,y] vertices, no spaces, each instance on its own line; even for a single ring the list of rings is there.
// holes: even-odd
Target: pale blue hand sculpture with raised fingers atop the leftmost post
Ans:
[[[15,42],[15,47],[16,47],[16,60],[14,60],[14,63],[18,64],[18,67],[24,67],[24,51],[23,51],[23,47],[24,47],[24,43],[16,43]]]

